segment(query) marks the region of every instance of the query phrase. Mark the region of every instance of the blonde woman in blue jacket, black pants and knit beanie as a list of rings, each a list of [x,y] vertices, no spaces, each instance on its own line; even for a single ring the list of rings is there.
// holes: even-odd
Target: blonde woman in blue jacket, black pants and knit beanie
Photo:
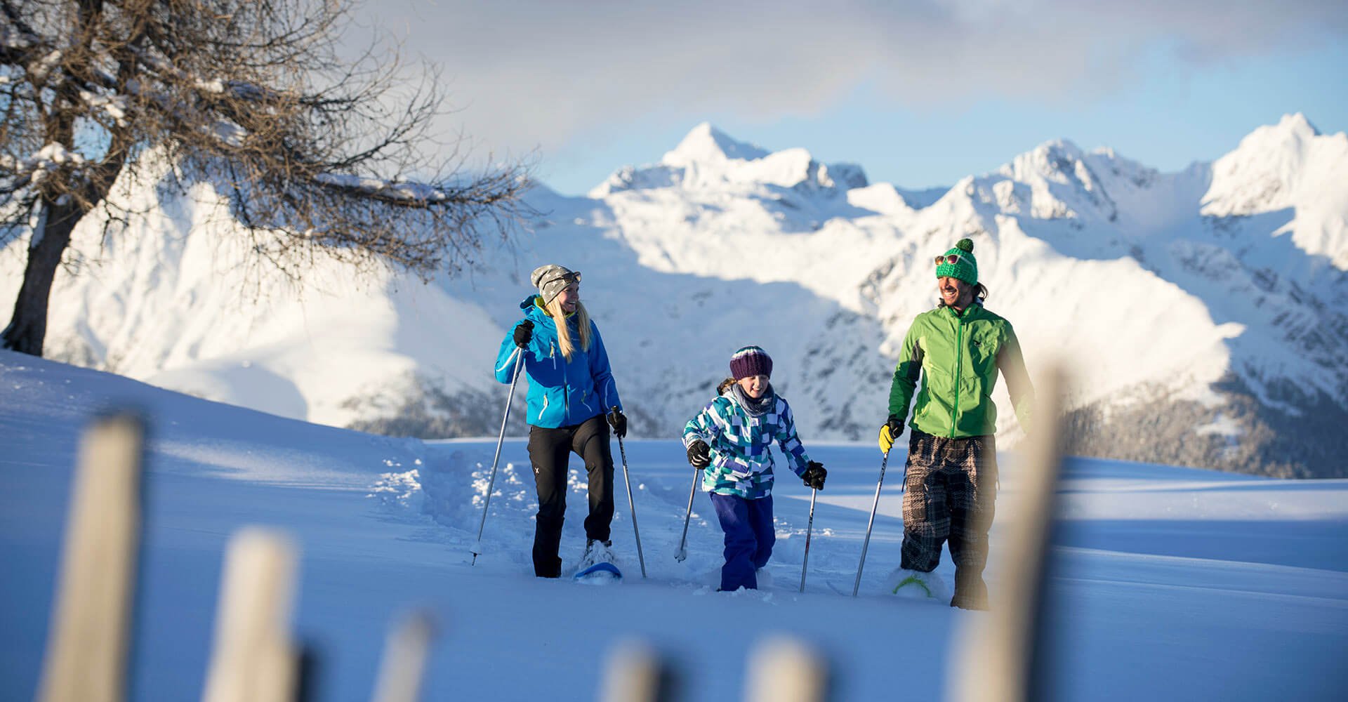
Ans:
[[[562,573],[558,550],[566,512],[566,473],[572,451],[585,459],[589,516],[580,567],[612,562],[609,524],[613,521],[613,454],[609,427],[627,435],[617,387],[599,327],[581,305],[581,274],[561,265],[539,265],[530,276],[537,295],[524,298],[524,318],[501,340],[496,380],[511,383],[516,354],[528,373],[528,459],[538,488],[534,527],[534,574]],[[616,410],[615,410],[616,408]],[[607,419],[607,424],[605,424]]]

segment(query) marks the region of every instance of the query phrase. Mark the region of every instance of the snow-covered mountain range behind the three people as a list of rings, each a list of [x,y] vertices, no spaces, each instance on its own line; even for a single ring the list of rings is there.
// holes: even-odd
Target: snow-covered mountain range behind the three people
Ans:
[[[1181,172],[1050,141],[926,191],[704,124],[588,197],[531,201],[531,232],[457,279],[318,263],[302,290],[240,263],[209,189],[147,201],[152,216],[112,245],[84,234],[49,348],[287,416],[495,434],[496,349],[530,269],[561,263],[584,274],[634,437],[677,434],[729,354],[758,344],[806,443],[868,439],[899,342],[936,303],[931,257],[969,237],[1031,375],[1070,369],[1074,453],[1348,476],[1348,137],[1299,115]],[[20,244],[0,252],[0,294],[18,288]],[[993,397],[1012,446],[1004,389]]]

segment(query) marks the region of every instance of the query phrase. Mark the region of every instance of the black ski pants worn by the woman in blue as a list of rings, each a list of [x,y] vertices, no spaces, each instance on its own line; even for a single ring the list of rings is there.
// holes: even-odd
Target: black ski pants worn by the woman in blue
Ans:
[[[585,536],[609,540],[613,521],[613,453],[608,446],[609,428],[604,415],[596,415],[569,427],[528,427],[528,461],[534,465],[538,488],[538,517],[534,524],[534,574],[557,578],[562,559],[557,551],[562,542],[566,513],[568,461],[574,451],[585,459],[589,482],[589,516]]]

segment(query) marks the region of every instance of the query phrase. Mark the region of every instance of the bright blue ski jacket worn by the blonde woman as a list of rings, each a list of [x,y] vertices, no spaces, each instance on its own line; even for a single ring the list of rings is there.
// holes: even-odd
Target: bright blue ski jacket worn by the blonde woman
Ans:
[[[528,416],[526,422],[535,427],[570,427],[613,407],[623,407],[613,384],[613,372],[608,365],[608,352],[599,327],[590,322],[590,348],[580,348],[580,333],[576,318],[569,317],[572,340],[572,360],[568,361],[557,346],[557,325],[547,310],[539,306],[538,295],[530,295],[520,303],[524,317],[534,322],[534,338],[526,349],[515,346],[515,325],[501,341],[496,354],[496,380],[510,383],[515,372],[515,357],[523,350],[524,372],[528,373]]]

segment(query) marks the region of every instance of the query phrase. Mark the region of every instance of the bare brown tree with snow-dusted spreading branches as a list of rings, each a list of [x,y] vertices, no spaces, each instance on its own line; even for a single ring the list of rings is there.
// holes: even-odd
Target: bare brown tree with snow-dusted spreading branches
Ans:
[[[527,213],[519,163],[469,171],[427,133],[435,75],[344,57],[342,0],[0,0],[0,243],[31,232],[3,346],[40,356],[75,225],[137,213],[109,191],[170,163],[209,181],[253,253],[291,276],[330,256],[423,279]]]

